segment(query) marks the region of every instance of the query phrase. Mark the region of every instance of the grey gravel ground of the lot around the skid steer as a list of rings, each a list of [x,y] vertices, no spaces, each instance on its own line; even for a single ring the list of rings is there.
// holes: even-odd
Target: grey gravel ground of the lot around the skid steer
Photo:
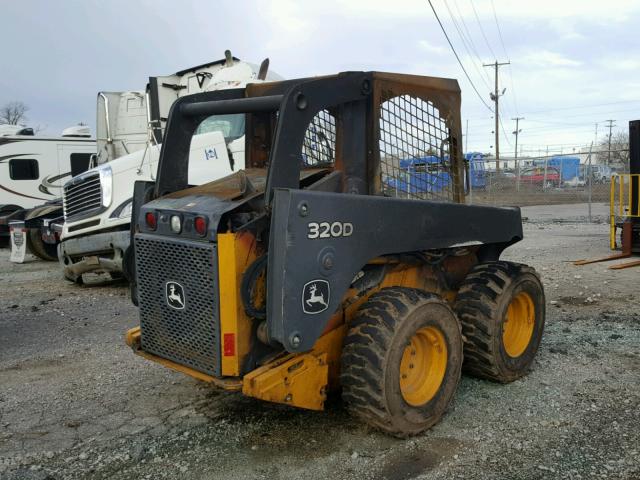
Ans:
[[[0,251],[0,478],[640,479],[640,268],[568,263],[608,253],[607,225],[585,214],[524,208],[525,240],[504,256],[546,288],[532,372],[463,377],[442,421],[404,441],[339,400],[290,409],[145,361],[124,345],[126,286],[74,286]]]

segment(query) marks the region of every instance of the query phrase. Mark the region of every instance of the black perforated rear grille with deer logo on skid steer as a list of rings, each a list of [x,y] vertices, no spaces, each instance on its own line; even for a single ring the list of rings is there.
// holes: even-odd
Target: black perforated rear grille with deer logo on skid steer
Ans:
[[[142,350],[219,376],[215,244],[137,234],[135,252]],[[171,306],[170,284],[182,308]]]

